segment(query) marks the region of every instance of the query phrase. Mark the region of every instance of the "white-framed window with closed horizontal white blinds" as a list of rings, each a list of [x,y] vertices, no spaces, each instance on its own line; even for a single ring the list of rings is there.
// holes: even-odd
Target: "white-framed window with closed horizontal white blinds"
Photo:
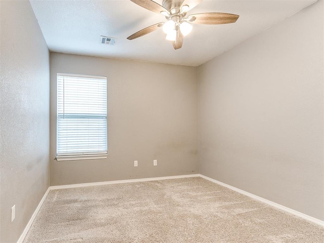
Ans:
[[[57,160],[107,157],[107,78],[57,74]]]

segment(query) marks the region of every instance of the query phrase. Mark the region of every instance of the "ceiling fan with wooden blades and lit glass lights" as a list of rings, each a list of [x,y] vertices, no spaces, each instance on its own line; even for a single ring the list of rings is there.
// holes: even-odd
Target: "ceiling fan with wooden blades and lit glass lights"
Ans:
[[[191,14],[186,17],[187,12],[203,0],[163,0],[162,5],[152,0],[131,0],[133,3],[148,9],[152,12],[162,14],[168,20],[148,26],[140,31],[128,36],[132,40],[148,34],[159,27],[163,27],[167,34],[166,39],[172,41],[175,50],[182,47],[183,36],[190,33],[194,24],[229,24],[234,23],[238,19],[238,15],[226,13],[199,13]]]

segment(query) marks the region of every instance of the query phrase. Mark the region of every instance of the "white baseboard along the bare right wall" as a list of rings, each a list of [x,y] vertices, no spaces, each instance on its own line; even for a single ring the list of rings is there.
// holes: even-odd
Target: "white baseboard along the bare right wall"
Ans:
[[[236,192],[239,192],[239,193],[241,193],[241,194],[244,194],[244,195],[247,195],[247,196],[249,196],[249,197],[252,197],[253,199],[256,199],[256,200],[258,200],[258,201],[262,201],[262,203],[265,203],[265,204],[267,204],[267,205],[270,205],[270,206],[275,207],[275,208],[277,208],[277,209],[280,209],[280,210],[282,210],[282,211],[285,211],[285,212],[291,213],[291,214],[296,215],[296,216],[298,216],[298,217],[300,217],[300,218],[303,218],[303,219],[306,219],[306,220],[308,220],[308,221],[311,221],[311,222],[313,222],[313,223],[315,223],[315,224],[319,224],[320,226],[324,226],[324,221],[321,221],[321,220],[319,220],[319,219],[313,218],[313,217],[308,216],[308,215],[306,215],[306,214],[300,213],[300,212],[298,212],[298,211],[296,211],[296,210],[293,210],[293,209],[287,208],[287,207],[282,206],[282,205],[280,205],[280,204],[274,203],[273,201],[270,201],[270,200],[265,199],[265,198],[263,198],[263,197],[260,197],[260,196],[254,195],[254,194],[252,194],[252,193],[250,193],[250,192],[247,192],[247,191],[244,191],[244,190],[238,189],[238,188],[236,188],[236,187],[234,187],[234,186],[230,186],[230,185],[227,185],[227,184],[225,184],[225,183],[223,183],[223,182],[220,182],[220,181],[214,180],[214,179],[212,179],[212,178],[210,178],[210,177],[207,177],[207,176],[204,176],[204,175],[201,175],[201,174],[200,174],[199,176],[200,176],[201,178],[204,178],[204,179],[206,179],[206,180],[209,180],[209,181],[214,182],[214,183],[216,183],[216,184],[219,184],[219,185],[221,185],[221,186],[227,187],[227,188],[229,188],[229,189],[231,189],[231,190],[233,190],[233,191],[236,191]]]

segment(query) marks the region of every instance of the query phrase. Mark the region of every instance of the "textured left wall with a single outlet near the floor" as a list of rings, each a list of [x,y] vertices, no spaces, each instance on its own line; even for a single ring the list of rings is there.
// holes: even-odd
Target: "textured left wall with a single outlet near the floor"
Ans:
[[[50,78],[29,2],[1,1],[0,23],[0,242],[7,243],[17,242],[49,187]]]

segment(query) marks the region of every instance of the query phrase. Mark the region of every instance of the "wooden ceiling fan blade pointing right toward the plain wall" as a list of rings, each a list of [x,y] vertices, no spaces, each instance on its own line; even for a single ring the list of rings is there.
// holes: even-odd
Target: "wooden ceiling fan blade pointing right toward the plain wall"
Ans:
[[[235,23],[239,15],[226,14],[226,13],[200,13],[192,14],[188,16],[188,19],[192,18],[195,20],[192,23],[195,24],[229,24]]]

